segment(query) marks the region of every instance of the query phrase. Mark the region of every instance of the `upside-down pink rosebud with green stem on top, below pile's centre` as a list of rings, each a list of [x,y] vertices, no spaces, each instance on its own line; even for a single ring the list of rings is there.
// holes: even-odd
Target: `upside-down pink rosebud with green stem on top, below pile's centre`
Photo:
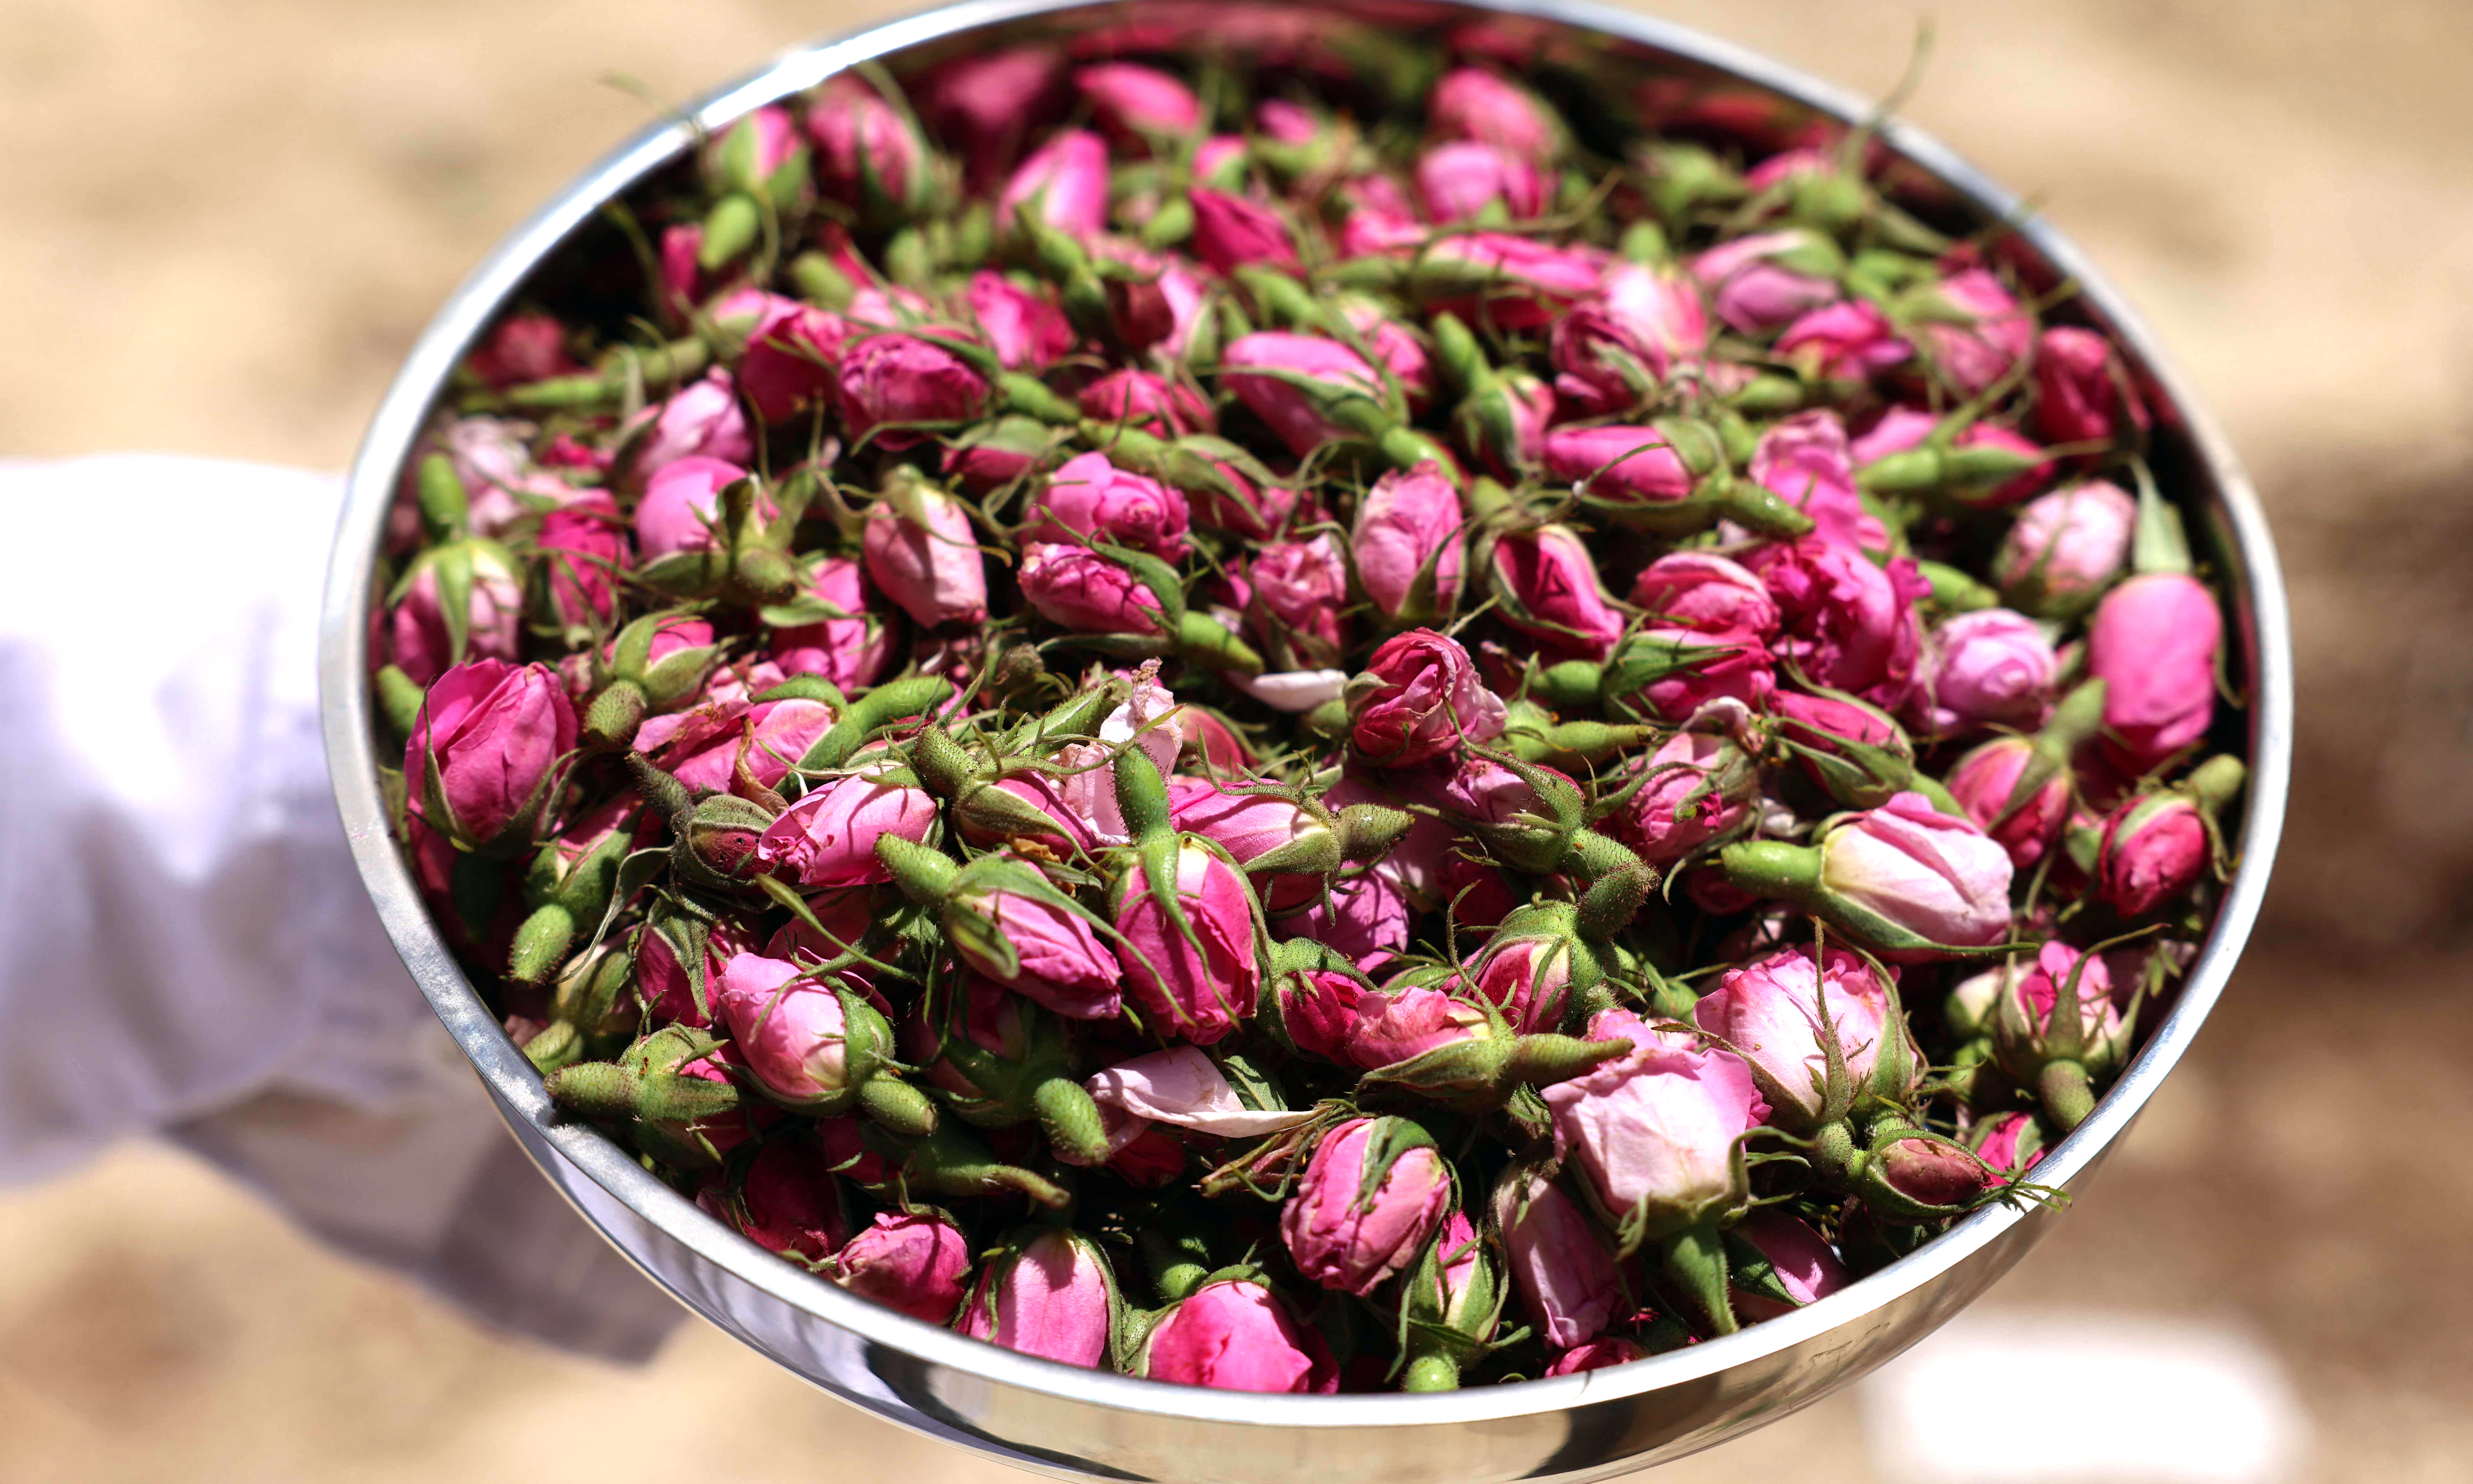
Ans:
[[[1175,910],[1160,895],[1140,863],[1118,881],[1125,982],[1155,1031],[1209,1046],[1254,1014],[1261,989],[1254,898],[1234,866],[1197,843],[1177,846]]]

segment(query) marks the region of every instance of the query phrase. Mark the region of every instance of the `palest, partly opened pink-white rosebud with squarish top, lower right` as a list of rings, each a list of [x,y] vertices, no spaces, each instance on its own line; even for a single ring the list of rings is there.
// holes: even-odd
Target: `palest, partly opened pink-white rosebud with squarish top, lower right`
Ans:
[[[1768,1118],[1768,1103],[1743,1059],[1627,1009],[1598,1012],[1588,1039],[1622,1039],[1632,1051],[1541,1093],[1556,1150],[1598,1205],[1617,1219],[1679,1227],[1748,1200],[1736,1140]]]

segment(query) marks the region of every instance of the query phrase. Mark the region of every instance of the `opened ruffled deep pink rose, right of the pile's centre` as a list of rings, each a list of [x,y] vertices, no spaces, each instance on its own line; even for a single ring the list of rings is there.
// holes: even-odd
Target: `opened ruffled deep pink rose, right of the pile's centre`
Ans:
[[[1743,566],[1778,603],[1778,658],[1813,685],[1889,710],[1907,700],[1924,641],[1914,599],[1929,591],[1914,561],[1879,566],[1855,547],[1805,537],[1761,547]]]

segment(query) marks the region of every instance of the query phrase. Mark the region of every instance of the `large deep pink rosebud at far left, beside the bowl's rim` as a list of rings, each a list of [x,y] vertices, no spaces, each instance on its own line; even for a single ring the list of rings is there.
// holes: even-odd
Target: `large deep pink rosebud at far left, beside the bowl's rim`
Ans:
[[[406,811],[465,848],[509,853],[547,834],[574,749],[576,707],[549,665],[455,665],[403,744]]]

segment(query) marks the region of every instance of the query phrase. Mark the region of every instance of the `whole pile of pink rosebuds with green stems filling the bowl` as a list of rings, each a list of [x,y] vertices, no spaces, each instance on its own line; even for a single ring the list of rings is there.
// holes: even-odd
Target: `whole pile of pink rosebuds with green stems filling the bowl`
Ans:
[[[1865,131],[1353,96],[861,69],[613,205],[391,532],[438,923],[752,1242],[1155,1380],[1565,1375],[2050,1200],[2243,779],[2124,356]]]

